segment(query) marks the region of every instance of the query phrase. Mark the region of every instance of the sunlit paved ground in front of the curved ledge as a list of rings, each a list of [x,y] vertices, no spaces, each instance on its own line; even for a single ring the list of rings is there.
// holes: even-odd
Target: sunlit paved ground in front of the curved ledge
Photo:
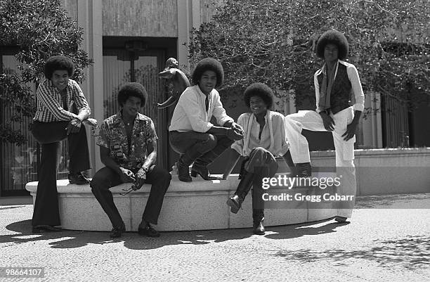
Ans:
[[[0,203],[0,267],[44,267],[44,281],[430,281],[430,193],[359,197],[351,223],[269,227],[266,236],[33,235],[31,216],[32,205]]]

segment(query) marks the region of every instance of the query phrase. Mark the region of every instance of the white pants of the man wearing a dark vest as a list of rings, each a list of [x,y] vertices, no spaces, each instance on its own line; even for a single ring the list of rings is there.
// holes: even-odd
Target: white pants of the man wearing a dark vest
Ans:
[[[336,150],[337,175],[341,177],[341,186],[337,194],[344,196],[354,196],[353,201],[338,201],[337,215],[340,217],[351,217],[354,207],[357,184],[356,167],[354,166],[354,143],[356,136],[344,141],[342,134],[346,132],[346,126],[350,124],[354,117],[353,107],[341,110],[339,113],[330,116],[334,120],[333,141]],[[326,132],[323,119],[320,114],[313,110],[299,110],[299,113],[287,115],[285,117],[285,131],[289,142],[289,150],[294,163],[310,162],[309,144],[306,137],[301,135],[302,129],[316,132]]]

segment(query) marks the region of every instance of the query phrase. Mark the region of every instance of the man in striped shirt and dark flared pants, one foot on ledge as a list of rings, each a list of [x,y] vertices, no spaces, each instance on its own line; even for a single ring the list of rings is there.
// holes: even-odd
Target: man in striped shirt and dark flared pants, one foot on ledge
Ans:
[[[37,109],[31,132],[41,144],[41,162],[32,219],[34,233],[61,230],[56,227],[60,225],[57,170],[63,139],[67,138],[69,146],[70,184],[89,183],[82,175],[90,169],[86,129],[82,123],[91,124],[88,120],[91,110],[79,84],[70,79],[73,73],[70,58],[48,58],[44,69],[46,79],[36,91]]]

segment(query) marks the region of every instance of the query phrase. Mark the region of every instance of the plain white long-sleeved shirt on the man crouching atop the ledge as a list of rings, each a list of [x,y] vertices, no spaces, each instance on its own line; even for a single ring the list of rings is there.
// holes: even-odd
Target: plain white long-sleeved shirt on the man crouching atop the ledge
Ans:
[[[206,106],[204,105],[205,99],[206,95],[204,95],[198,85],[185,89],[171,117],[169,131],[207,132],[214,126],[210,122],[212,115],[214,115],[216,122],[221,126],[228,121],[234,121],[233,118],[226,114],[218,91],[213,89],[209,93],[208,110],[206,110]]]

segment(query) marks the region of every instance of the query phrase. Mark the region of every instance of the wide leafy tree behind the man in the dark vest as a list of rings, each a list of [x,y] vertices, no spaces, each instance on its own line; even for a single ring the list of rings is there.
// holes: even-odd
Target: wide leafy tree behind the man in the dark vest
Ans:
[[[429,101],[429,23],[426,0],[226,0],[211,22],[193,30],[190,60],[221,61],[221,93],[263,82],[278,96],[295,94],[298,108],[314,109],[313,74],[323,65],[315,45],[334,28],[348,39],[348,61],[365,91],[413,109]]]

